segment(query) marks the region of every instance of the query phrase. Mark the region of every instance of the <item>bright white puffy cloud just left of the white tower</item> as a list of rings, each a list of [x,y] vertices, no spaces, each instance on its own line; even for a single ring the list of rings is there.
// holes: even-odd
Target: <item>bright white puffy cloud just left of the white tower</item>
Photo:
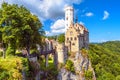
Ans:
[[[58,19],[54,24],[51,25],[51,30],[46,31],[47,36],[58,35],[65,32],[65,21],[63,19]]]

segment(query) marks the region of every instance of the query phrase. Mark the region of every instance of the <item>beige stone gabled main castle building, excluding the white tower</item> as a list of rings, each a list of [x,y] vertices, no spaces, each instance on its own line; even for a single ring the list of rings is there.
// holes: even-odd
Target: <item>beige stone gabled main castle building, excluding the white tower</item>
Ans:
[[[65,45],[68,46],[69,51],[77,52],[81,48],[88,49],[89,32],[84,26],[78,23],[71,25],[65,33]]]

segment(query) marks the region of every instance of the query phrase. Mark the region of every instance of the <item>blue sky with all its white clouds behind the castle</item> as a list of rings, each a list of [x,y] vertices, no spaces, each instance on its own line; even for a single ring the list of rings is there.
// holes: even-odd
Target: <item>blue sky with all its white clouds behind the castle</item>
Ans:
[[[89,30],[90,42],[120,40],[119,0],[4,0],[25,6],[40,19],[46,36],[65,32],[64,8],[74,7],[74,17]],[[2,0],[0,0],[0,4]]]

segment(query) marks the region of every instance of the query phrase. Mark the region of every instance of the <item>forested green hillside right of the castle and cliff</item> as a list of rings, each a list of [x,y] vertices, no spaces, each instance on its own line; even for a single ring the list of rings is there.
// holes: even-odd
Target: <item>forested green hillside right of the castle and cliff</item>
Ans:
[[[97,80],[120,80],[120,41],[94,43],[89,48]]]

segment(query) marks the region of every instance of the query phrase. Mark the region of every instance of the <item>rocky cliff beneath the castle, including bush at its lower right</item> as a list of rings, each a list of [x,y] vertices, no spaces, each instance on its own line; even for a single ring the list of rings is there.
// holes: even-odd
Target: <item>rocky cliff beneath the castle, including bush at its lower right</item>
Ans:
[[[68,60],[73,62],[74,72],[68,70],[65,64],[59,71],[58,80],[96,80],[87,53],[84,51],[71,53]]]

